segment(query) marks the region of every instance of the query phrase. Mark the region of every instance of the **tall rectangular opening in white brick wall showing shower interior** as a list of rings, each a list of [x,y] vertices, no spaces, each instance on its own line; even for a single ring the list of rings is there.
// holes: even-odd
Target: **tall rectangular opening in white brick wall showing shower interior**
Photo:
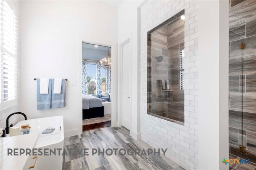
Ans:
[[[148,114],[184,125],[184,10],[148,31]]]

